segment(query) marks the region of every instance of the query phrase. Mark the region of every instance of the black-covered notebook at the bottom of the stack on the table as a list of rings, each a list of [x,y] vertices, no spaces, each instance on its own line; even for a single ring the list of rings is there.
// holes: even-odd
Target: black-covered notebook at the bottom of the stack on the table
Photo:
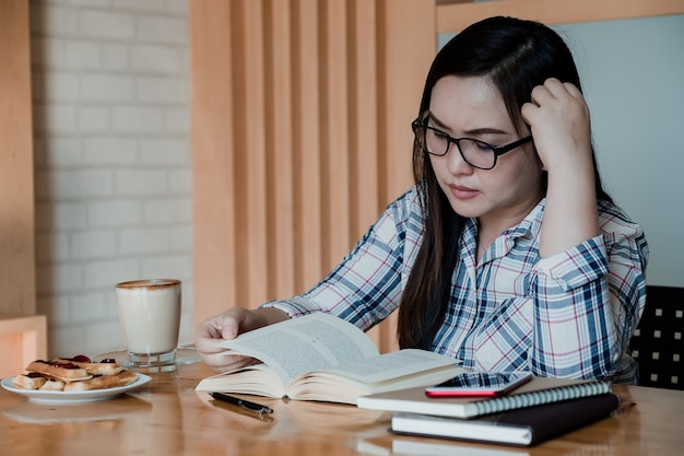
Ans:
[[[530,446],[608,417],[620,406],[613,393],[509,410],[475,420],[396,413],[390,432]]]

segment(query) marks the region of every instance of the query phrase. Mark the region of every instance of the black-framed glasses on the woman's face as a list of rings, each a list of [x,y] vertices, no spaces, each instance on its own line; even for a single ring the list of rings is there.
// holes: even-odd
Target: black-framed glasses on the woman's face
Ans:
[[[528,136],[506,145],[492,145],[472,138],[452,138],[441,130],[428,127],[428,114],[423,113],[411,124],[418,145],[431,155],[444,156],[449,153],[451,144],[456,144],[465,163],[480,169],[492,169],[499,155],[532,140],[532,136]]]

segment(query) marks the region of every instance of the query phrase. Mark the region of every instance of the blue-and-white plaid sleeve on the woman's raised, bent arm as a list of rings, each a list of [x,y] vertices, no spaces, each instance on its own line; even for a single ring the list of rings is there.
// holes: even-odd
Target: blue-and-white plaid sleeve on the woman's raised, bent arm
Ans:
[[[602,230],[533,268],[530,359],[538,375],[633,383],[626,348],[646,303],[648,247],[641,230],[620,219],[606,219]]]

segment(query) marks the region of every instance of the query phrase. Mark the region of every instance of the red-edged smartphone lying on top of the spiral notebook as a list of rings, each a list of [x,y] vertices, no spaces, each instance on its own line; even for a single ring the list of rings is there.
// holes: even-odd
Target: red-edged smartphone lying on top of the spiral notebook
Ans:
[[[506,395],[532,379],[529,372],[469,372],[425,388],[427,397],[494,397]]]

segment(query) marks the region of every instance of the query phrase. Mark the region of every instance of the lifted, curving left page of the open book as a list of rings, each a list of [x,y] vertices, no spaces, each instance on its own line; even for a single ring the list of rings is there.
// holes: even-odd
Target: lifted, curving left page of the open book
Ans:
[[[378,354],[373,341],[341,318],[315,313],[226,340],[226,354],[256,358],[275,371],[284,385],[295,376]]]

